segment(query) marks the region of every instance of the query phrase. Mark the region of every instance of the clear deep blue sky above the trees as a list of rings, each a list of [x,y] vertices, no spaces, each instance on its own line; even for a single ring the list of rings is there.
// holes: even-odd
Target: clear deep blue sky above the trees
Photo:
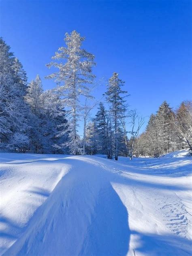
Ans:
[[[175,108],[192,98],[191,12],[190,0],[1,0],[0,35],[28,81],[39,74],[46,90],[54,84],[44,79],[51,72],[45,64],[65,32],[77,30],[96,57],[98,79],[119,73],[130,108],[148,117],[163,100]]]

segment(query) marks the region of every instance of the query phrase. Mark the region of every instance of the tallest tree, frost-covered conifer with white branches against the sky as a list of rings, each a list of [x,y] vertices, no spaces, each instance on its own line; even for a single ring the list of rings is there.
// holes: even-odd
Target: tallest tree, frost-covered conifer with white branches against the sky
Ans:
[[[77,134],[77,127],[82,106],[79,98],[90,97],[90,86],[94,79],[92,67],[95,65],[94,55],[82,49],[82,42],[85,37],[80,36],[75,30],[71,34],[65,34],[65,43],[67,47],[60,47],[53,60],[62,60],[62,62],[50,62],[47,67],[58,68],[55,72],[46,78],[54,79],[58,83],[56,92],[60,93],[61,101],[66,109],[68,119],[67,126],[64,124],[60,135],[68,133],[69,140],[61,146],[69,147],[71,154],[81,154],[80,138]]]

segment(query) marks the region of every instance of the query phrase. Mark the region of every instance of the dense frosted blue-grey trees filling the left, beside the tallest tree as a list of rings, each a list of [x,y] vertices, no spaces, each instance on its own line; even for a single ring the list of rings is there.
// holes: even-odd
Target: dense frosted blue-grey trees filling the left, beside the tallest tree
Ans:
[[[55,147],[66,122],[59,96],[43,92],[40,77],[27,83],[23,66],[0,38],[0,150],[63,153]]]

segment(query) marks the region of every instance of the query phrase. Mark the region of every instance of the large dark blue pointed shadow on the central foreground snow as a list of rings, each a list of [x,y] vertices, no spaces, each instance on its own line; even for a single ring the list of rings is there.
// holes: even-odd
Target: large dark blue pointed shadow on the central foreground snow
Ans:
[[[79,255],[124,256],[128,253],[128,212],[109,183],[101,190]]]

